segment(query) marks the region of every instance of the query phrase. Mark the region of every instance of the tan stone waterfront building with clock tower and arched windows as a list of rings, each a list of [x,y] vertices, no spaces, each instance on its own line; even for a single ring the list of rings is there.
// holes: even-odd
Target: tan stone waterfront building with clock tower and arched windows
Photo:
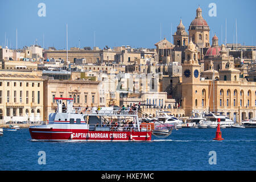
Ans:
[[[213,61],[210,61],[209,70],[200,74],[200,65],[193,59],[193,49],[186,54],[189,60],[184,61],[182,78],[185,115],[211,111],[227,115],[235,122],[255,117],[256,82],[240,78],[240,71],[234,69],[232,60],[224,59],[219,71],[214,70]]]

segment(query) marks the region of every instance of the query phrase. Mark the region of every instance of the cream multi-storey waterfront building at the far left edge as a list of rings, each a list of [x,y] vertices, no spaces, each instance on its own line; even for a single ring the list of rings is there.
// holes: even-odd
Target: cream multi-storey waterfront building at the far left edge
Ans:
[[[43,121],[43,79],[36,72],[0,72],[0,123]]]

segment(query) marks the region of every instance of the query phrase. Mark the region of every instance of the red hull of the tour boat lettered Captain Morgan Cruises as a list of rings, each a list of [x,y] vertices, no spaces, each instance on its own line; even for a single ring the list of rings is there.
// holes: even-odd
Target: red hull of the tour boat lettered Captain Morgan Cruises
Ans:
[[[90,131],[88,129],[41,129],[30,128],[35,140],[46,141],[150,141],[150,131]]]

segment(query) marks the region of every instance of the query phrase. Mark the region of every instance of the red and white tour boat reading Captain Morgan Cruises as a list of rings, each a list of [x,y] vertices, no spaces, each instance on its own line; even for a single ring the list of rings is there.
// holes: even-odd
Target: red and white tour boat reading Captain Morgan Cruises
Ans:
[[[74,110],[73,98],[55,98],[56,113],[47,125],[30,126],[34,140],[46,141],[150,141],[152,125],[139,125],[137,109],[92,107]],[[63,103],[67,101],[67,107]],[[113,123],[114,122],[114,123]],[[154,126],[153,126],[154,127]]]

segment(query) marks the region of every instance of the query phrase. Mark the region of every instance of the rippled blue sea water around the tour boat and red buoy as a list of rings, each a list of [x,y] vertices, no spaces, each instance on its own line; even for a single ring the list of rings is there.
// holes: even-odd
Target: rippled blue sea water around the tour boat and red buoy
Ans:
[[[183,128],[152,142],[34,142],[28,129],[4,131],[0,137],[0,170],[255,170],[256,129]],[[39,151],[46,164],[39,164]],[[210,151],[216,152],[216,164]]]

